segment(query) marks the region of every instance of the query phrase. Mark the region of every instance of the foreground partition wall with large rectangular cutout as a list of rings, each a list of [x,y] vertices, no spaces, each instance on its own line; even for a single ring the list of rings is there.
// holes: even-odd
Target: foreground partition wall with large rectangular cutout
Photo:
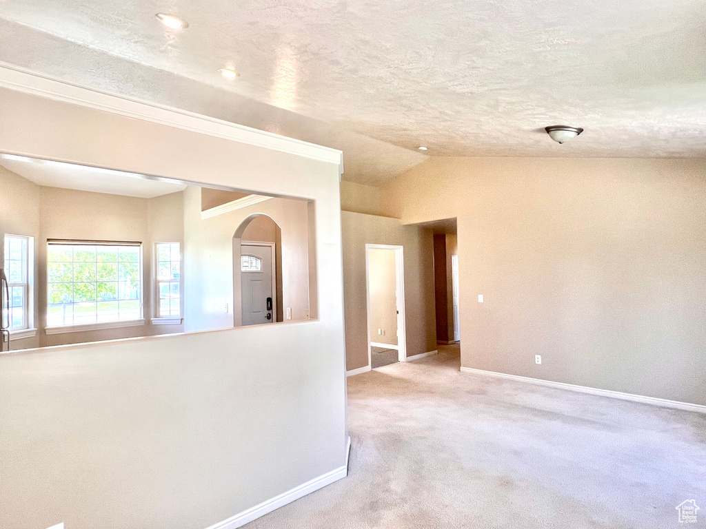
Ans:
[[[0,355],[0,526],[201,529],[345,468],[338,165],[5,89],[0,114],[2,152],[315,200],[325,293],[316,321]]]

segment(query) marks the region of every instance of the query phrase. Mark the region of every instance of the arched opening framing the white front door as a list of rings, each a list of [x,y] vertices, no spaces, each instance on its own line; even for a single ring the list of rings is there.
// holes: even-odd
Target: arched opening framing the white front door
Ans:
[[[233,324],[284,321],[282,229],[263,213],[244,219],[233,236]]]

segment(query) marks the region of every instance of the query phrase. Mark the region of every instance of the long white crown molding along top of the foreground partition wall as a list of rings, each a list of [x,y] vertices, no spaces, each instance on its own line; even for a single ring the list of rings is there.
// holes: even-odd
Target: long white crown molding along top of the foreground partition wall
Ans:
[[[343,173],[343,152],[323,145],[287,138],[265,130],[238,125],[218,118],[203,116],[186,110],[167,107],[143,99],[127,97],[103,90],[96,90],[64,80],[40,75],[25,68],[0,62],[0,87],[25,94],[37,95],[54,101],[78,104],[81,107],[102,110],[150,121],[182,130],[215,136],[268,150],[296,154],[297,156],[337,164]]]

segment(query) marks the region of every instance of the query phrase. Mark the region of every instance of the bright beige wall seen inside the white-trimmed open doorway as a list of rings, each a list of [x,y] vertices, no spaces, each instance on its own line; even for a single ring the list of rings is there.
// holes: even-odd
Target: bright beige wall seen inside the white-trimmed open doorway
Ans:
[[[368,250],[370,339],[397,345],[397,269],[395,250]],[[378,329],[384,334],[378,334]]]

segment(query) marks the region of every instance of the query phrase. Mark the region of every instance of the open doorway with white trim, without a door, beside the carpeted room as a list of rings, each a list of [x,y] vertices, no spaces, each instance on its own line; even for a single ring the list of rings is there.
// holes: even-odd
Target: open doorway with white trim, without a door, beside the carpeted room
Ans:
[[[372,369],[407,358],[402,246],[366,244],[368,361]]]

